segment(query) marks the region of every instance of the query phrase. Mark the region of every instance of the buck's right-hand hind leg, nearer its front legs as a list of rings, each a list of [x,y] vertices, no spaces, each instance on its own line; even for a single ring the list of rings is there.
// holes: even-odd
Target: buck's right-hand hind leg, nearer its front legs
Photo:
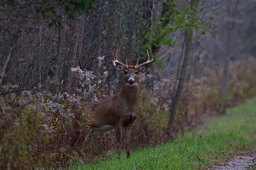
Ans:
[[[83,148],[84,148],[84,144],[86,143],[86,140],[89,138],[91,132],[92,132],[92,129],[85,129],[80,133],[80,135],[77,139],[76,149],[84,162],[86,162],[86,158],[85,158],[85,155],[83,152]]]

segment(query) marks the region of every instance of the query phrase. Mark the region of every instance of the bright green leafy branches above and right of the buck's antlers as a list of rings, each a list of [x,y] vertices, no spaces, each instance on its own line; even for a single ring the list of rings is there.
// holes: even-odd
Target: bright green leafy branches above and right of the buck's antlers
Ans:
[[[204,18],[204,4],[196,1],[191,6],[188,2],[177,0],[162,1],[164,9],[160,17],[154,17],[153,23],[145,26],[140,33],[144,34],[143,44],[138,41],[142,49],[147,47],[158,48],[161,45],[173,46],[179,37],[171,37],[171,33],[177,31],[188,31],[192,38],[192,32],[198,30],[205,34],[207,30],[207,21]],[[149,29],[150,27],[150,29]]]

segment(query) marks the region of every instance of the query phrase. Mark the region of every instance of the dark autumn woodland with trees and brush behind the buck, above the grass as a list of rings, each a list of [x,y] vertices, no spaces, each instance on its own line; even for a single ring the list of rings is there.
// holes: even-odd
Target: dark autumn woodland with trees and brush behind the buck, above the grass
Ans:
[[[157,57],[140,75],[133,148],[225,114],[256,95],[255,17],[253,0],[0,2],[0,169],[80,161],[59,149],[73,115],[120,89],[113,49],[134,64],[146,48]],[[112,150],[113,131],[92,134],[85,147],[89,158]]]

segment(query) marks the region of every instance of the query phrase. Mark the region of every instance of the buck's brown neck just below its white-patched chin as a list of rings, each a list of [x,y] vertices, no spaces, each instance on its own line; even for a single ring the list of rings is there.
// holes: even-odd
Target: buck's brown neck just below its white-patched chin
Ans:
[[[139,103],[139,84],[137,86],[127,86],[123,84],[120,91],[120,97],[129,105],[133,107]]]

